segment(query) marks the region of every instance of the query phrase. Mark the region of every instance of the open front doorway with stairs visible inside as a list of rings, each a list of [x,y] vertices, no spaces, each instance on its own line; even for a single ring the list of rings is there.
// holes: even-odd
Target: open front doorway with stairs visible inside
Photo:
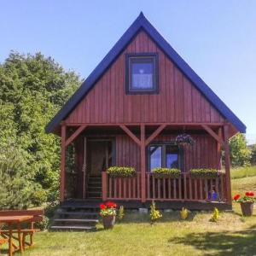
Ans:
[[[102,172],[113,166],[113,140],[88,139],[86,145],[86,197],[102,197]]]

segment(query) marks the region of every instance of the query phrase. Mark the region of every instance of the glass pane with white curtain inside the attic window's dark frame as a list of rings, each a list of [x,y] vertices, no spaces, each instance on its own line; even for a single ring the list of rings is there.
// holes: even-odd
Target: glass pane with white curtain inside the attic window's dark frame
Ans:
[[[153,63],[131,63],[131,89],[153,89]]]

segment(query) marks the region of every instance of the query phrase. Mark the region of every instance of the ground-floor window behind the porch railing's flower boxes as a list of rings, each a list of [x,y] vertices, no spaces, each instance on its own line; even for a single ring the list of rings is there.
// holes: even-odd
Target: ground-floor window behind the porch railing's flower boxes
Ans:
[[[183,152],[173,144],[154,144],[148,147],[148,167],[182,168]]]

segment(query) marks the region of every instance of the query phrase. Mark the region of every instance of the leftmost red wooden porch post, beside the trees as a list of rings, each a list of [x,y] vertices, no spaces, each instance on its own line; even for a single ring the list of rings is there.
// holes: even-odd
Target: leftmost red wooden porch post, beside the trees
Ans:
[[[66,169],[66,125],[61,125],[61,183],[60,201],[64,201],[65,194],[65,169]]]

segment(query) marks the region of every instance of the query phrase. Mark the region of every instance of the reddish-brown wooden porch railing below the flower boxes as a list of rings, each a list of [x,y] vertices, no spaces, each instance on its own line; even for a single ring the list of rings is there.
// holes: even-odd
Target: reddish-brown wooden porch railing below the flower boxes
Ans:
[[[192,178],[188,172],[179,178],[156,178],[146,173],[145,188],[147,201],[226,201],[225,174],[216,178]],[[142,199],[141,172],[135,177],[115,178],[102,172],[102,200]]]

